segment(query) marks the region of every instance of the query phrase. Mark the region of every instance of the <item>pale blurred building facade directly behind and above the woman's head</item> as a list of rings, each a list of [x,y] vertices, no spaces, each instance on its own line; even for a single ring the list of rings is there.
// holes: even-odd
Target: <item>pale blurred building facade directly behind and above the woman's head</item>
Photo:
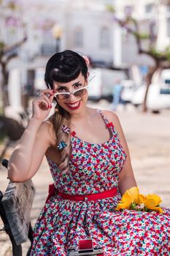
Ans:
[[[103,1],[98,2],[41,1],[39,4],[36,0],[26,20],[29,40],[24,51],[28,56],[54,53],[52,25],[56,23],[62,29],[60,50],[77,50],[95,60],[112,63],[112,14],[107,12]]]

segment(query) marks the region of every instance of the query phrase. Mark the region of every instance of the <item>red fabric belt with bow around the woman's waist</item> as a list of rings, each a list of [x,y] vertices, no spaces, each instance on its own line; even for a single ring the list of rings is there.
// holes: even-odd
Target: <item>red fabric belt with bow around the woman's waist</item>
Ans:
[[[50,199],[51,196],[55,195],[55,192],[57,190],[55,189],[54,184],[49,185],[49,194],[47,197],[47,200]],[[93,200],[99,200],[104,199],[107,197],[113,197],[117,194],[117,188],[114,187],[113,189],[109,189],[104,192],[96,193],[96,194],[88,194],[88,195],[69,195],[60,191],[57,191],[57,194],[60,195],[64,199],[68,200],[74,200],[74,201],[93,201]],[[47,202],[46,200],[46,202]]]

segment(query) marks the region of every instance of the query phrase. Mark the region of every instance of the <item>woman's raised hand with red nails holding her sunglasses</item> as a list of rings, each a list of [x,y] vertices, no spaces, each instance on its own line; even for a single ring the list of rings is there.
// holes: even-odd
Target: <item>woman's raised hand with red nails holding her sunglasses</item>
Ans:
[[[33,114],[32,117],[39,121],[44,121],[50,113],[52,108],[54,93],[51,89],[40,91],[39,97],[33,100]]]

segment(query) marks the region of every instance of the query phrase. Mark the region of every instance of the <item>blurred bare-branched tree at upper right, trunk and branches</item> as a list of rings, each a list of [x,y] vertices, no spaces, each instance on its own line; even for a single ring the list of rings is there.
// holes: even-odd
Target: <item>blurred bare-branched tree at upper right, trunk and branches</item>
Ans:
[[[169,1],[166,1],[168,4]],[[162,3],[161,3],[162,4]],[[155,6],[155,8],[159,8],[159,4]],[[140,31],[139,22],[134,19],[131,15],[127,15],[124,19],[117,18],[116,12],[114,8],[107,7],[107,10],[112,12],[113,18],[116,23],[119,24],[120,27],[125,29],[128,34],[132,34],[136,39],[136,45],[139,54],[145,54],[150,56],[154,61],[154,64],[149,67],[149,70],[146,75],[146,92],[144,95],[144,102],[142,105],[142,111],[147,111],[147,93],[149,91],[149,87],[152,81],[152,76],[158,69],[167,69],[170,68],[170,47],[166,47],[164,50],[158,50],[157,45],[157,31],[156,24],[154,20],[150,20],[149,31],[142,32]],[[147,40],[147,47],[143,44]]]

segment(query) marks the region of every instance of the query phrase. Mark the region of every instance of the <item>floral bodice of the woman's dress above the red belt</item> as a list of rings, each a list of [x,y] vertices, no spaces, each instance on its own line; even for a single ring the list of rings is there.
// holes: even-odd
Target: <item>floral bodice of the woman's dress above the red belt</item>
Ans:
[[[47,157],[55,187],[67,194],[83,195],[117,187],[118,174],[125,162],[125,151],[120,144],[114,124],[110,123],[101,110],[102,118],[111,137],[104,143],[88,143],[71,133],[72,154],[69,159],[69,172],[61,173]]]

